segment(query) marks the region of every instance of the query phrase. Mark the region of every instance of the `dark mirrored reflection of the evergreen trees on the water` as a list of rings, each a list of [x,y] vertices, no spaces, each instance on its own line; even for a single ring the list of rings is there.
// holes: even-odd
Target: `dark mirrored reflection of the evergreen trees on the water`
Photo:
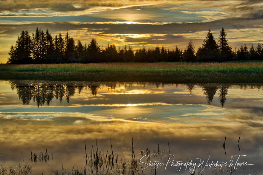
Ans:
[[[164,83],[87,83],[87,82],[64,82],[64,83],[56,83],[56,82],[21,82],[21,81],[9,81],[11,89],[16,90],[19,100],[22,101],[24,105],[28,105],[30,101],[33,99],[33,103],[36,102],[36,105],[42,106],[45,103],[49,106],[50,102],[55,98],[62,102],[63,98],[70,103],[70,98],[74,96],[74,94],[81,93],[83,89],[89,90],[93,96],[99,94],[99,89],[101,87],[107,87],[108,90],[114,90],[116,86],[123,86],[127,88],[127,86],[156,86],[156,88],[175,86],[175,89],[178,85],[185,86],[189,94],[192,95],[195,88],[202,88],[204,95],[207,99],[208,105],[211,105],[212,100],[214,99],[216,93],[218,92],[218,100],[223,107],[226,103],[226,96],[228,95],[229,88],[238,88],[238,89],[257,89],[262,90],[262,85],[219,85],[219,84],[164,84]]]

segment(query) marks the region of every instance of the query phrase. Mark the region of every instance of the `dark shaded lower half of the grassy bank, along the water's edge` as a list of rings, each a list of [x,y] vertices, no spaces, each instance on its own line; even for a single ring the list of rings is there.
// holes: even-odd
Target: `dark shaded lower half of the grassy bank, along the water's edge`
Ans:
[[[116,81],[162,83],[263,83],[263,73],[1,72],[1,80]]]

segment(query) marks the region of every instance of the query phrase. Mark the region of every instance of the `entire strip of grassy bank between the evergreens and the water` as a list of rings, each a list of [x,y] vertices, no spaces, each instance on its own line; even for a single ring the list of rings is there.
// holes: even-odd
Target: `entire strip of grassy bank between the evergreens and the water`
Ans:
[[[263,83],[263,62],[0,64],[1,79]]]

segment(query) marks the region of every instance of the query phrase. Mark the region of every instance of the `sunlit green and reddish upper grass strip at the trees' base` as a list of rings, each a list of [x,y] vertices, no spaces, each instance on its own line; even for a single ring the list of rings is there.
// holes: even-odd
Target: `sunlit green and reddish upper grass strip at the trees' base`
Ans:
[[[263,62],[248,63],[93,63],[0,65],[0,71],[11,72],[218,72],[263,73]]]

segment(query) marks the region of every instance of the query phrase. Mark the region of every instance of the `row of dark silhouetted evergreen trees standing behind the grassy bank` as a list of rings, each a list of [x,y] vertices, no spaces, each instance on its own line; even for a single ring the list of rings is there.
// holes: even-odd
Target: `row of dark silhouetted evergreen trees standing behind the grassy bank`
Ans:
[[[134,53],[132,47],[126,45],[116,48],[115,44],[108,44],[103,48],[93,38],[88,45],[83,45],[80,40],[75,43],[69,36],[59,35],[53,37],[48,29],[44,32],[36,28],[31,36],[23,30],[18,36],[16,45],[11,45],[7,63],[10,64],[52,64],[52,63],[101,63],[101,62],[225,62],[263,60],[263,44],[258,44],[250,49],[247,45],[232,49],[226,39],[224,28],[220,31],[218,42],[215,41],[209,29],[202,47],[195,52],[192,40],[184,51],[177,46],[175,49],[155,48],[137,49]]]

